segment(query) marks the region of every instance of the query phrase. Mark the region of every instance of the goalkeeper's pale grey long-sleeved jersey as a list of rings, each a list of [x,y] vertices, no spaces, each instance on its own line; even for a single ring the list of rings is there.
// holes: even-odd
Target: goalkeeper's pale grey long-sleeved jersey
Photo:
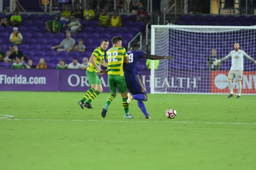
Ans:
[[[244,70],[244,57],[252,62],[255,62],[255,60],[252,57],[248,56],[243,50],[233,50],[226,57],[222,58],[221,61],[230,59],[230,57],[232,58],[232,66],[230,70]]]

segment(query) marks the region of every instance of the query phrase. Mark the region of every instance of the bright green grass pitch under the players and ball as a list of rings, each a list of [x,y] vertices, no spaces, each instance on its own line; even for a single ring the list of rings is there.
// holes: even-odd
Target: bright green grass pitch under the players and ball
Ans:
[[[82,110],[83,92],[0,91],[1,170],[254,170],[256,98],[148,95],[144,118],[132,101],[124,119],[118,94]],[[167,119],[168,108],[177,110]],[[5,116],[0,116],[5,117]],[[241,123],[241,124],[239,124]],[[243,124],[242,124],[243,123]]]

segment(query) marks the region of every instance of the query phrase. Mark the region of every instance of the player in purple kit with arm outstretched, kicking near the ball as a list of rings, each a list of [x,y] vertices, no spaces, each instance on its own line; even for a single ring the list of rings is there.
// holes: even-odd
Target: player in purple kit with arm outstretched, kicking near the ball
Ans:
[[[143,101],[148,100],[147,91],[145,89],[145,85],[142,82],[140,71],[139,71],[139,61],[142,58],[146,59],[173,59],[172,57],[162,57],[157,55],[145,54],[143,51],[140,51],[140,45],[138,43],[133,43],[131,45],[130,51],[127,52],[129,63],[123,65],[125,81],[127,84],[128,91],[130,93],[127,94],[128,104],[131,103],[132,99],[137,100],[137,104],[140,110],[145,115],[146,119],[151,119],[148,114]],[[102,73],[102,74],[101,74]],[[101,71],[101,75],[106,74],[106,71]]]

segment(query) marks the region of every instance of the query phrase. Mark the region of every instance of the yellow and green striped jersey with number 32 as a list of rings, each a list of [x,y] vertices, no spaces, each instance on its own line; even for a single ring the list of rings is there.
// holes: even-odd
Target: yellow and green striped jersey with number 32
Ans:
[[[123,47],[112,47],[107,51],[108,74],[123,76],[123,62],[128,55]]]

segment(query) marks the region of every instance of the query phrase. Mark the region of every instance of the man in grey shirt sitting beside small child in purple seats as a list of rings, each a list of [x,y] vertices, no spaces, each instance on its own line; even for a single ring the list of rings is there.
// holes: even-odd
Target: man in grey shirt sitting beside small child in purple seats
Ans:
[[[52,49],[58,48],[57,52],[60,52],[60,51],[70,52],[70,51],[72,51],[75,47],[76,41],[73,38],[71,38],[71,33],[70,32],[66,33],[66,37],[67,38],[65,38],[64,40],[61,41],[60,45],[53,46]]]

